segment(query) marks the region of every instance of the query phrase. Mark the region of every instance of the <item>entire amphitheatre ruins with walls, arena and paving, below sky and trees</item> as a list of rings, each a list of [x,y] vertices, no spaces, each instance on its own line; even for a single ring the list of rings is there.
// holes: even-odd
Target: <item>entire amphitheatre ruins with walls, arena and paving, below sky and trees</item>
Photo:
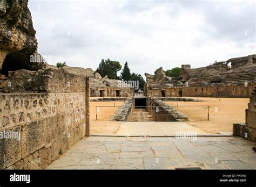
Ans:
[[[256,54],[160,67],[136,95],[89,67],[31,62],[28,0],[2,2],[0,169],[256,169]]]

